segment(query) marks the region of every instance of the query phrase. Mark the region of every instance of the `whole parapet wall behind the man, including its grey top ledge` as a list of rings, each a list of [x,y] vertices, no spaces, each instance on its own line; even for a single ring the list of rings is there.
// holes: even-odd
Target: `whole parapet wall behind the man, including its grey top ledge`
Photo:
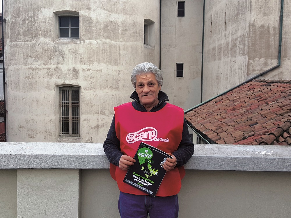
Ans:
[[[179,217],[290,218],[291,147],[196,144]],[[0,217],[118,217],[101,143],[0,144]]]

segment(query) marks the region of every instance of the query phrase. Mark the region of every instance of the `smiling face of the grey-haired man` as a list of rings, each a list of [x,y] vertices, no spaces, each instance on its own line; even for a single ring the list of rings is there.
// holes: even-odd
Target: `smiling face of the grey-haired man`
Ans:
[[[161,90],[155,74],[146,73],[136,75],[136,92],[139,102],[144,106],[155,106],[158,104],[158,94]]]

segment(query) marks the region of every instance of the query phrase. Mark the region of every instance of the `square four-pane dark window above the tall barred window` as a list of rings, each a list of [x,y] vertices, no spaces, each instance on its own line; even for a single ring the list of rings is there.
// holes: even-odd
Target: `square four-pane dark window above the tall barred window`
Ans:
[[[79,38],[79,17],[58,17],[60,38]]]

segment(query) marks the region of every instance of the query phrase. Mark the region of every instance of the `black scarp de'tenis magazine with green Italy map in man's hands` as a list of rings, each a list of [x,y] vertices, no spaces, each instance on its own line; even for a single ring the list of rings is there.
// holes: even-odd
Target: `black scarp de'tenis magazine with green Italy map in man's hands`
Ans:
[[[141,142],[123,182],[155,196],[166,174],[163,164],[166,158],[173,158],[164,151]]]

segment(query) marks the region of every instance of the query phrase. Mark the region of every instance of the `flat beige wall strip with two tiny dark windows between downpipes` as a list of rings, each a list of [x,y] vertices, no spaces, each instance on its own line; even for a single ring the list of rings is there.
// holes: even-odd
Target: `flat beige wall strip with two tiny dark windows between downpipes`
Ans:
[[[203,1],[186,0],[185,17],[177,17],[177,2],[162,0],[162,90],[187,110],[200,103]],[[176,63],[184,63],[183,78],[176,78]]]

